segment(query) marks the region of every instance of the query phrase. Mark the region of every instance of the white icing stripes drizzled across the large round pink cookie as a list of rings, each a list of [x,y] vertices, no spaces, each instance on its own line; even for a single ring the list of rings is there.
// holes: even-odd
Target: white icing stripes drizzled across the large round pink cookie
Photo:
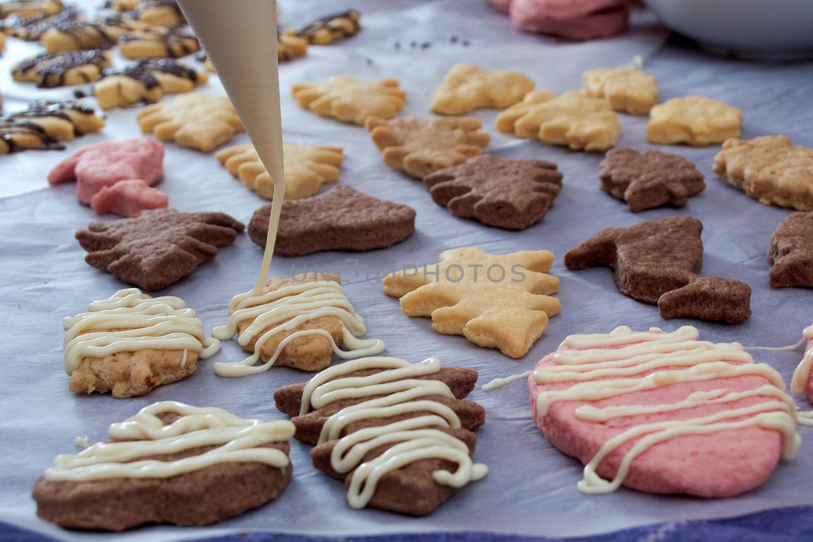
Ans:
[[[785,459],[796,455],[800,442],[795,430],[796,406],[785,393],[785,383],[779,373],[767,364],[754,363],[739,343],[715,344],[698,341],[697,338],[698,330],[691,326],[680,327],[671,333],[661,332],[657,327],[650,328],[650,332],[633,332],[629,327],[622,326],[608,334],[572,335],[554,353],[552,360],[555,365],[539,366],[533,371],[537,384],[575,382],[569,388],[541,392],[537,396],[537,414],[541,416],[547,414],[554,401],[597,401],[669,384],[741,375],[762,376],[770,382],[741,392],[728,392],[724,388],[693,392],[680,401],[662,405],[613,405],[604,408],[581,405],[576,409],[577,418],[603,423],[611,418],[727,404],[748,397],[768,399],[698,418],[629,427],[607,440],[585,466],[584,476],[577,486],[580,492],[594,494],[615,491],[624,482],[635,457],[654,444],[676,436],[763,427],[781,433]],[[599,477],[596,469],[602,460],[633,439],[637,441],[624,454],[615,478],[606,480]]]

